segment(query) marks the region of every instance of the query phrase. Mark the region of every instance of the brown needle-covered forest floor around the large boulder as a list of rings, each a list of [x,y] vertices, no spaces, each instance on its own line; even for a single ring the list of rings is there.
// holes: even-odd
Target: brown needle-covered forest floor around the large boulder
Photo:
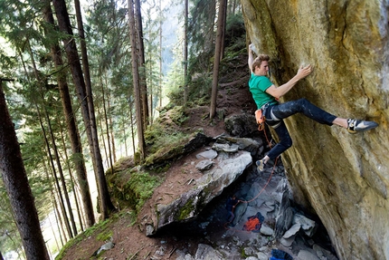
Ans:
[[[242,113],[242,111],[253,113],[255,104],[247,86],[249,79],[247,68],[241,69],[234,77],[233,80],[228,80],[231,83],[224,81],[225,83],[222,83],[218,89],[217,111],[223,110],[223,115],[228,117]],[[209,137],[216,137],[225,132],[223,119],[216,117],[211,122],[209,118],[206,118],[207,114],[209,114],[209,107],[191,109],[188,112],[188,120],[182,126],[183,130],[190,131],[202,128],[204,134]],[[139,218],[142,216],[150,214],[149,209],[152,202],[157,200],[161,200],[161,203],[166,202],[164,200],[178,197],[177,195],[191,188],[186,185],[188,178],[201,176],[201,173],[194,168],[194,164],[190,163],[194,161],[194,158],[194,153],[189,154],[172,164],[172,167],[166,171],[164,183],[155,190],[153,197],[149,199],[150,204],[146,204],[138,215],[138,221],[141,220]],[[81,241],[67,248],[62,259],[176,259],[177,248],[185,247],[185,250],[194,255],[199,241],[202,240],[200,236],[185,236],[183,239],[177,236],[148,237],[145,235],[145,231],[141,230],[142,226],[138,224],[139,222],[131,224],[131,215],[127,212],[129,210],[122,210],[115,221],[105,226],[105,230],[94,232],[90,236],[81,234]],[[224,231],[223,224],[221,224],[221,226],[213,226],[212,234],[217,237],[221,236]],[[101,237],[103,233],[111,235],[115,246],[100,254],[100,257],[93,256],[100,246],[107,243],[98,237]],[[162,246],[165,252],[158,251]]]

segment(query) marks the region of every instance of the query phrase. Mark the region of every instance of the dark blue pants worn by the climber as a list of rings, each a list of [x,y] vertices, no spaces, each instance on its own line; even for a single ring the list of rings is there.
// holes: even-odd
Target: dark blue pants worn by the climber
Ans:
[[[283,119],[296,113],[303,113],[311,120],[316,120],[328,126],[332,126],[332,122],[337,118],[327,111],[319,109],[306,99],[270,105],[264,111],[266,123],[276,131],[280,139],[280,142],[270,149],[268,153],[270,159],[276,159],[282,152],[292,146],[293,142]]]

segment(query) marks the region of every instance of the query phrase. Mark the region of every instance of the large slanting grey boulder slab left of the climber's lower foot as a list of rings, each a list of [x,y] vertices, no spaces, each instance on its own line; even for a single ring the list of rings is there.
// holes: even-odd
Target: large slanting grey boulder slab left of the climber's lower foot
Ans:
[[[251,166],[251,152],[240,149],[246,147],[247,140],[232,138],[230,140],[233,141],[227,142],[223,137],[219,140],[221,141],[216,140],[212,147],[217,157],[214,157],[213,153],[207,153],[213,161],[211,169],[204,169],[202,177],[194,180],[195,187],[168,204],[156,203],[154,217],[150,217],[144,223],[147,236],[156,235],[162,227],[185,223],[197,217],[214,197],[221,195],[224,188],[230,186]],[[248,147],[256,146],[259,149],[260,145],[257,141],[251,140]],[[204,152],[199,154],[197,158],[201,159],[204,154]]]

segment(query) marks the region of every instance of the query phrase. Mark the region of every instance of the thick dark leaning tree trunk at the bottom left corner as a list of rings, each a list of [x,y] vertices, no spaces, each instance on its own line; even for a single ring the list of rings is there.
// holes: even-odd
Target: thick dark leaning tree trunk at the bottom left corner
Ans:
[[[0,171],[28,260],[50,259],[0,80]],[[3,256],[2,256],[3,257]]]

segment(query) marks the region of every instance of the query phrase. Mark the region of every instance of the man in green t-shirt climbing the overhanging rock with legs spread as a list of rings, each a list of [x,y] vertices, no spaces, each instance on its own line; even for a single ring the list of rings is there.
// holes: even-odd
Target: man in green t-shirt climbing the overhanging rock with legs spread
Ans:
[[[308,118],[328,126],[335,124],[345,128],[350,133],[371,130],[378,126],[374,121],[338,118],[327,111],[319,109],[306,99],[280,103],[280,97],[290,91],[299,80],[307,77],[313,68],[311,65],[301,66],[297,74],[289,82],[276,87],[267,77],[269,72],[269,55],[260,54],[253,59],[253,49],[254,47],[251,43],[249,45],[248,64],[251,71],[249,87],[252,98],[257,104],[258,110],[262,112],[266,124],[273,128],[280,138],[280,142],[270,149],[264,158],[256,161],[257,168],[260,171],[263,170],[269,159],[276,159],[282,152],[291,147],[292,140],[283,120],[295,113],[301,112]]]

